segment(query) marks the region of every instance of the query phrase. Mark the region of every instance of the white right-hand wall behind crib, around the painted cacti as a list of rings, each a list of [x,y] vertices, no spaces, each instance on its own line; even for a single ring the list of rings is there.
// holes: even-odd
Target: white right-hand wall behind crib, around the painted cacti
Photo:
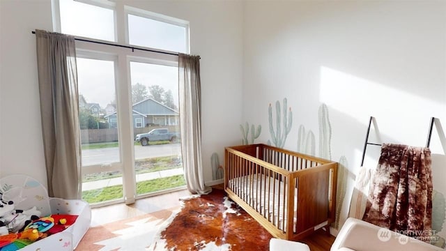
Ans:
[[[317,153],[318,107],[328,105],[332,159],[345,155],[351,172],[344,217],[369,116],[383,142],[424,146],[431,116],[446,130],[445,2],[246,1],[243,27],[243,121],[261,124],[257,142],[266,142],[268,105],[287,98],[285,148],[297,149],[302,124]],[[367,165],[376,165],[373,147]],[[431,150],[446,153],[436,130]],[[434,189],[444,195],[445,164],[433,162]]]

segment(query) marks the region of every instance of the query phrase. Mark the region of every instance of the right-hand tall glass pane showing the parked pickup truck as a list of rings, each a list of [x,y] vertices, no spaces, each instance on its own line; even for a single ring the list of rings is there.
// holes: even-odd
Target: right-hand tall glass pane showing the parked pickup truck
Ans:
[[[185,185],[180,149],[178,67],[130,61],[137,196]]]

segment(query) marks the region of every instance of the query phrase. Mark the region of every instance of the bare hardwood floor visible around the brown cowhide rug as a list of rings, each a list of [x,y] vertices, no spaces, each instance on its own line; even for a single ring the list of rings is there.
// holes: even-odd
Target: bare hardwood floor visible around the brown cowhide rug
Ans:
[[[213,189],[224,189],[223,184],[213,186]],[[103,206],[91,210],[91,227],[102,225],[116,220],[124,220],[145,213],[161,211],[163,209],[174,210],[180,206],[178,198],[190,195],[187,190],[171,192],[166,195],[158,195],[144,199],[138,199],[134,204],[116,204],[112,206]],[[334,242],[334,236],[328,236],[325,231],[316,231],[303,240],[301,243],[309,245],[312,251],[329,251]]]

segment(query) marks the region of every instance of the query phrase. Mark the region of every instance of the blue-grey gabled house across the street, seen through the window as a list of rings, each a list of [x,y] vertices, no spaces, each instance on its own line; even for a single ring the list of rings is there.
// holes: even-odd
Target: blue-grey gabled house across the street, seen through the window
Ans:
[[[132,110],[134,128],[144,128],[150,125],[176,126],[180,120],[180,115],[176,110],[151,98],[137,102],[133,105]],[[116,128],[116,112],[104,116],[104,119],[107,119],[110,128]]]

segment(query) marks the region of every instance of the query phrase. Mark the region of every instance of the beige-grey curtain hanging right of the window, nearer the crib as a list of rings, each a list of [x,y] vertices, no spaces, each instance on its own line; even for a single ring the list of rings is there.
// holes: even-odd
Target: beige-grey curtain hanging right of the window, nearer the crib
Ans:
[[[201,83],[200,57],[178,55],[181,153],[187,190],[193,194],[208,194],[204,185],[201,162]]]

